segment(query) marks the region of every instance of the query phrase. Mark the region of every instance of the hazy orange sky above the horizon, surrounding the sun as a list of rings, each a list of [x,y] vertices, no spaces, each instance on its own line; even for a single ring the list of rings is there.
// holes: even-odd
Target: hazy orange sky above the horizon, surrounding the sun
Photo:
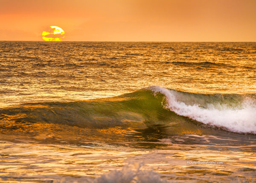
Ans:
[[[1,41],[256,41],[256,0],[0,0]]]

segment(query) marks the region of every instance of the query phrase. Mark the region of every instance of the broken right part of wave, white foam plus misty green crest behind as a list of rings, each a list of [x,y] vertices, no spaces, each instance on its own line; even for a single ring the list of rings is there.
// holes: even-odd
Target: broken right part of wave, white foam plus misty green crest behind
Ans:
[[[166,97],[165,107],[180,116],[186,116],[207,125],[225,128],[238,133],[256,134],[256,105],[252,98],[239,96],[239,99],[226,97],[226,100],[206,102],[207,95],[200,99],[192,93],[181,93],[175,90],[168,90],[161,87],[148,87],[154,93],[162,93]],[[195,95],[197,95],[195,97]],[[235,96],[235,95],[233,95]],[[214,97],[212,95],[212,97]],[[218,96],[215,96],[218,97]],[[201,105],[199,99],[203,100]],[[230,102],[230,99],[232,101]],[[183,101],[182,101],[183,100]],[[186,104],[190,102],[190,104]],[[227,103],[226,103],[227,102]]]

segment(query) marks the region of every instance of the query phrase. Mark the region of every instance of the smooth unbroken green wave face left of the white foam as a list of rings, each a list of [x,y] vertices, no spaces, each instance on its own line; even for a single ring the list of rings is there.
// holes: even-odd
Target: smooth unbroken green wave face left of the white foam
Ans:
[[[131,122],[164,124],[170,111],[163,94],[148,89],[122,96],[77,102],[31,103],[0,110],[1,119],[17,123],[53,123],[81,128],[125,126]]]

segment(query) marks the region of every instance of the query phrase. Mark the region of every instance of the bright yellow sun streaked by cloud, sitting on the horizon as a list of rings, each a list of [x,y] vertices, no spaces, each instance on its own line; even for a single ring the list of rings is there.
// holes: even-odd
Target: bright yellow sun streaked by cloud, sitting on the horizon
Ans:
[[[62,41],[64,34],[64,30],[60,27],[50,26],[47,31],[43,31],[42,38],[44,41]]]

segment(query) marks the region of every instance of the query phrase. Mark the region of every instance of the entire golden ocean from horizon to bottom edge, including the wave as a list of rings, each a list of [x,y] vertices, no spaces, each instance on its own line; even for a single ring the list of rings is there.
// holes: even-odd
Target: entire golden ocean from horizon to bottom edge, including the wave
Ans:
[[[255,183],[255,42],[0,41],[0,183]]]

